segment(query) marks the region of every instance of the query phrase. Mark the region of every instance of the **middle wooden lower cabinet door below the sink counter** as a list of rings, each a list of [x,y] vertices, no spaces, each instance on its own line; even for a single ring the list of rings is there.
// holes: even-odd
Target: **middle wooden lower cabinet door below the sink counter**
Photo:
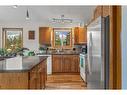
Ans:
[[[71,72],[72,55],[63,55],[62,58],[62,72]]]

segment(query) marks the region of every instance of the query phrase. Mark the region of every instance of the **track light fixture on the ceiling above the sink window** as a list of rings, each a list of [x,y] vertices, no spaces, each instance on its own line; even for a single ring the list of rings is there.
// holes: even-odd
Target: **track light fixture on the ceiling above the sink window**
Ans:
[[[52,18],[53,23],[72,23],[72,19],[65,18],[64,15],[61,15],[60,18]]]

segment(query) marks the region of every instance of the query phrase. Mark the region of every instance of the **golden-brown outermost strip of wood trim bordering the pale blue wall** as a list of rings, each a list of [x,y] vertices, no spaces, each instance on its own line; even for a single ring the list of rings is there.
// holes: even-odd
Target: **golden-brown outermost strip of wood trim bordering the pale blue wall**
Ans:
[[[122,27],[122,8],[117,7],[117,89],[122,88],[122,55],[121,55],[121,27]]]

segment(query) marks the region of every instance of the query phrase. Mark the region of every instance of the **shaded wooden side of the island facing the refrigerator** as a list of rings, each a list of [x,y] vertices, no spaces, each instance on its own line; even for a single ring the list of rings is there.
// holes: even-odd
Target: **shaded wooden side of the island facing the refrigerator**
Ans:
[[[40,63],[30,71],[29,88],[30,89],[44,89],[45,81],[47,79],[46,62]]]

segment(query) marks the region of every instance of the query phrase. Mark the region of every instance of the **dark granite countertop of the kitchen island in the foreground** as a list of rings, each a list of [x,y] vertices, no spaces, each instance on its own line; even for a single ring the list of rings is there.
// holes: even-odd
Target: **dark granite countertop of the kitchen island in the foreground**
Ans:
[[[20,61],[18,60],[17,62],[15,59],[10,58],[1,60],[0,61],[0,72],[23,72],[23,71],[29,71],[31,70],[34,66],[39,64],[40,62],[44,61],[47,59],[46,56],[39,57],[39,56],[29,56],[29,57],[20,57]],[[10,67],[7,66],[10,65]],[[13,65],[20,65],[17,67],[12,67]]]

